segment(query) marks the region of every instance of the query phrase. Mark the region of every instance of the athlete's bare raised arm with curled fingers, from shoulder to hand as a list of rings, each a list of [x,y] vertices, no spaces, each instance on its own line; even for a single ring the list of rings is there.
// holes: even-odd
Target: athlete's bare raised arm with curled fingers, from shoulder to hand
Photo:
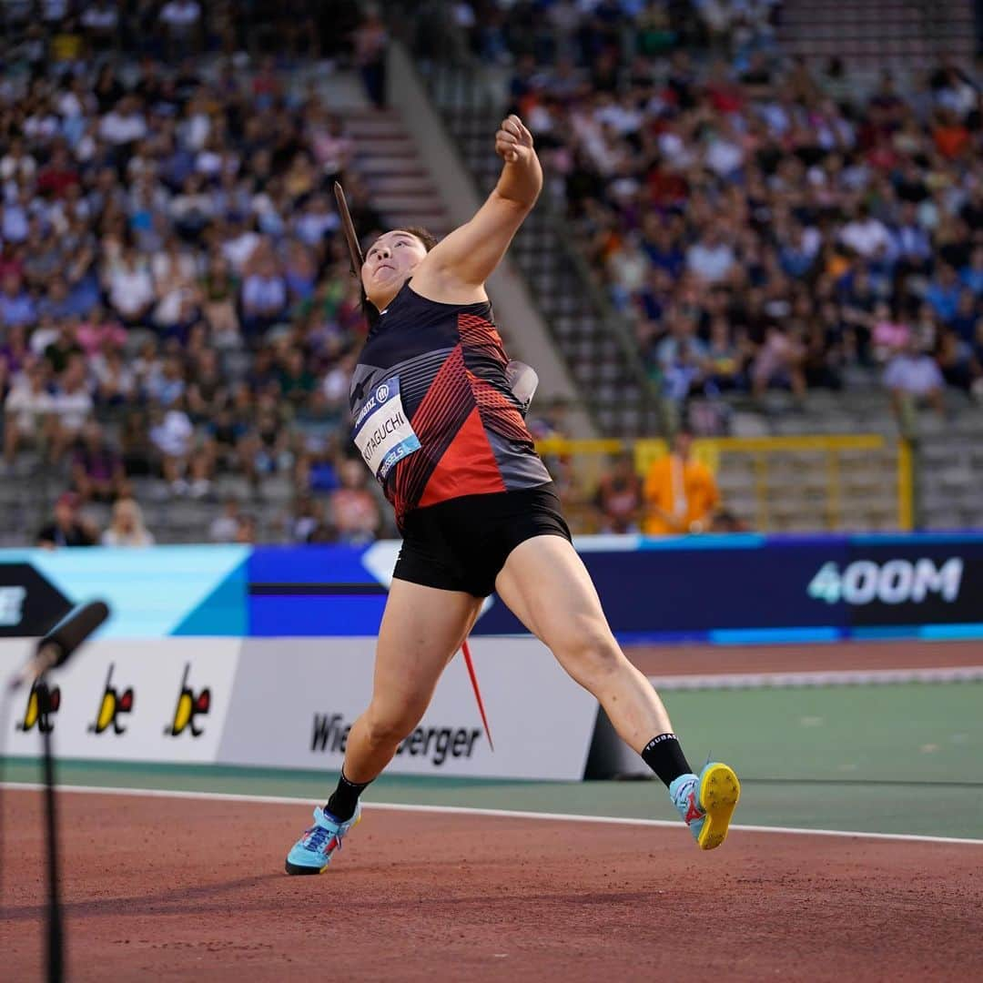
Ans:
[[[485,281],[543,187],[533,135],[518,116],[502,120],[495,152],[505,161],[488,200],[470,222],[441,240],[413,275],[413,289],[431,300],[470,304],[485,299]]]

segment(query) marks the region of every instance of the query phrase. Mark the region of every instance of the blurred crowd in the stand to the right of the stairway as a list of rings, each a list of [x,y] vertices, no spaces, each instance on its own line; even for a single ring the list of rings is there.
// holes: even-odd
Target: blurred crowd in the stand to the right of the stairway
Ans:
[[[983,399],[979,87],[781,58],[777,0],[459,4],[667,399]],[[691,52],[702,47],[705,57]],[[864,93],[864,94],[861,94]]]

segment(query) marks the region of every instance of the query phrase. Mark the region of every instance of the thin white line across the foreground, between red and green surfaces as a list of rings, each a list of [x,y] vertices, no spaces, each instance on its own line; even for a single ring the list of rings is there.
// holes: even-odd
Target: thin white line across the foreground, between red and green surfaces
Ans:
[[[40,791],[44,786],[35,781],[4,781],[0,787],[13,791]],[[260,802],[267,805],[306,805],[313,798],[300,798],[291,795],[246,795],[239,792],[202,792],[167,788],[103,788],[100,785],[58,785],[61,792],[77,792],[88,795],[129,795],[148,798],[198,799],[212,802]],[[562,812],[523,812],[512,809],[475,809],[458,805],[409,805],[400,802],[366,802],[369,811],[390,810],[393,812],[424,812],[449,816],[492,816],[499,819],[541,819],[557,823],[602,823],[607,826],[649,826],[678,829],[679,823],[667,819],[632,819],[621,816],[581,816],[577,813]],[[744,826],[734,824],[730,829],[741,833],[781,833],[803,837],[840,837],[860,839],[899,839],[915,843],[961,843],[968,846],[983,846],[983,839],[959,837],[923,837],[910,833],[862,833],[847,830],[802,830],[787,826]]]

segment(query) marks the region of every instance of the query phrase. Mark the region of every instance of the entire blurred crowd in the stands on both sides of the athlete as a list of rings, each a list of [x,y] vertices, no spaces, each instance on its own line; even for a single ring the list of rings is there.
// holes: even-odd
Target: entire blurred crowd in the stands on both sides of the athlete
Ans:
[[[432,45],[450,31],[444,54],[510,67],[548,194],[667,399],[877,375],[899,410],[941,411],[944,382],[983,396],[978,88],[943,64],[855,98],[841,64],[781,59],[780,6],[414,12]],[[102,501],[110,542],[147,542],[134,479],[213,498],[226,473],[289,480],[287,539],[371,539],[385,513],[344,436],[365,324],[331,182],[361,231],[383,218],[305,59],[358,67],[380,101],[379,17],[308,0],[2,16],[2,467],[31,445],[71,486],[41,539],[94,542],[78,509]],[[599,492],[598,525],[623,524],[616,497]],[[250,542],[256,517],[228,501],[211,535]]]

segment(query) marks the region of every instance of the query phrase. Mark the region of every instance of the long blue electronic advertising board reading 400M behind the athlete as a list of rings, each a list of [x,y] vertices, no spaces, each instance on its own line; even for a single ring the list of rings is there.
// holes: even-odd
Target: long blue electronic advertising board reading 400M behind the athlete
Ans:
[[[623,641],[983,638],[983,534],[648,539],[577,549]],[[0,550],[0,636],[106,600],[103,637],[375,635],[397,543]],[[492,598],[476,635],[523,632]]]

